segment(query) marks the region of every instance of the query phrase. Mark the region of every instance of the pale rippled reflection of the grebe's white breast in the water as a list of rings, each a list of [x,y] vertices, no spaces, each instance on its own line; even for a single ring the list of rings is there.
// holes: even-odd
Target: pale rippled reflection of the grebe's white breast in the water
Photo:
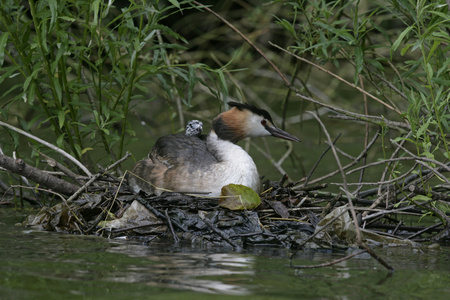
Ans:
[[[129,265],[105,278],[117,282],[141,282],[150,286],[188,289],[203,293],[246,295],[245,276],[253,276],[254,257],[239,253],[154,252],[147,246],[116,244],[108,252],[147,258],[145,267]],[[232,277],[227,278],[224,276]],[[238,276],[236,276],[238,275]],[[239,280],[239,275],[243,275]],[[217,278],[217,277],[221,278]],[[214,280],[214,278],[217,278]]]

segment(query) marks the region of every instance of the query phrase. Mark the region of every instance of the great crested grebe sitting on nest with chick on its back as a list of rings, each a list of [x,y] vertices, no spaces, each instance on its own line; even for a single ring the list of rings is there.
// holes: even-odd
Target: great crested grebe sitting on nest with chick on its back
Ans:
[[[160,195],[170,190],[217,197],[223,186],[234,183],[259,193],[261,181],[256,165],[235,143],[246,137],[261,136],[300,140],[275,127],[267,111],[251,104],[228,104],[231,109],[213,120],[206,138],[200,137],[202,123],[199,121],[191,121],[186,133],[159,138],[148,158],[138,161],[131,169],[128,182],[133,191]]]

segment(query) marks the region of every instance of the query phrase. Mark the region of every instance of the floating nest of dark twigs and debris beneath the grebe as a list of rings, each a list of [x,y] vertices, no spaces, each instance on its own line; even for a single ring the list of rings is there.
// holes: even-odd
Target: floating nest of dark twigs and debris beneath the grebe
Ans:
[[[282,246],[290,249],[356,247],[358,234],[366,245],[417,246],[415,241],[440,241],[442,224],[406,226],[394,214],[419,216],[414,207],[368,209],[373,201],[352,199],[360,232],[354,226],[348,199],[326,192],[327,185],[292,189],[285,180],[266,181],[261,204],[252,210],[230,210],[218,198],[166,192],[133,194],[124,181],[98,178],[90,192],[30,216],[26,226],[72,234],[144,240],[188,240],[206,246],[240,249]],[[370,212],[370,214],[365,214]],[[444,237],[444,238],[442,238]],[[361,243],[360,242],[360,243]]]

